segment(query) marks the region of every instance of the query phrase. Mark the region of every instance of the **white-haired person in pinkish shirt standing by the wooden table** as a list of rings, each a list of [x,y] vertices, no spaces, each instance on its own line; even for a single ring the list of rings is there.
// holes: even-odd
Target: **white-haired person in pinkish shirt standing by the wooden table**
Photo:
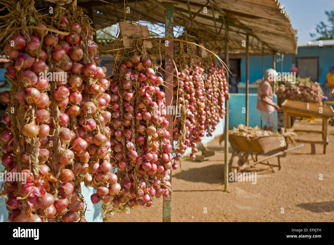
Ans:
[[[267,69],[265,72],[265,79],[259,84],[258,88],[256,109],[266,121],[266,125],[263,129],[268,131],[273,131],[275,109],[278,112],[282,112],[282,108],[273,101],[273,89],[270,85],[276,80],[277,75],[276,70]]]

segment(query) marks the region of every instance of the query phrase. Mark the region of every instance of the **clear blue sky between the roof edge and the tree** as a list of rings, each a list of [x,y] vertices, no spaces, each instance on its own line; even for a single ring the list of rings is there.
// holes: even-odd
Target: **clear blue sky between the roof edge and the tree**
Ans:
[[[291,17],[292,27],[298,30],[298,42],[312,40],[310,32],[315,33],[320,21],[327,23],[325,11],[334,9],[333,0],[281,0],[280,2]]]

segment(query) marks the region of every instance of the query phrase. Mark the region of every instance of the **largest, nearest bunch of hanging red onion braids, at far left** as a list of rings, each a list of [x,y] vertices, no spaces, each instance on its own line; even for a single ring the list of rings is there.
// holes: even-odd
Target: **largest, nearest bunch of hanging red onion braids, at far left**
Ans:
[[[5,21],[23,28],[3,38],[4,54],[11,60],[5,67],[11,91],[1,94],[8,105],[2,118],[2,164],[7,172],[28,176],[26,184],[4,183],[8,219],[85,222],[80,182],[105,198],[100,190],[108,189],[114,177],[105,126],[111,117],[105,93],[109,81],[95,64],[94,33],[82,9],[58,2],[53,13],[59,18],[45,18],[33,3],[3,3],[12,15]],[[45,30],[46,25],[54,31]],[[100,196],[93,194],[92,201]]]

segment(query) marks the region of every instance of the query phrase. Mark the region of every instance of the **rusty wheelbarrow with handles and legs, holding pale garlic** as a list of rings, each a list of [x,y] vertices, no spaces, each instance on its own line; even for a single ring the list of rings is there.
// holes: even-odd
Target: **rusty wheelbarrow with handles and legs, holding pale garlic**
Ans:
[[[261,137],[243,137],[239,135],[229,135],[228,141],[232,148],[232,157],[228,163],[230,171],[243,171],[247,168],[253,168],[261,163],[268,165],[275,173],[274,167],[281,169],[280,157],[287,152],[303,147],[304,144],[288,149],[286,137],[284,136],[261,136]],[[265,154],[266,157],[258,160],[258,155]],[[255,156],[254,156],[255,155]],[[268,160],[277,157],[278,165],[271,164]]]

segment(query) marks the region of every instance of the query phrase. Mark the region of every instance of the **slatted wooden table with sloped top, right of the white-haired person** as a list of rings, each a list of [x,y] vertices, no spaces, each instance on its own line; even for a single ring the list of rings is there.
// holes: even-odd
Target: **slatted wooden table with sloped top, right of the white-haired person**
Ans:
[[[286,99],[281,107],[284,114],[284,128],[288,129],[287,131],[322,134],[322,140],[297,140],[297,142],[311,143],[311,154],[315,154],[315,144],[322,144],[324,147],[323,153],[326,154],[326,146],[328,145],[327,120],[329,117],[334,117],[333,107],[289,99]],[[320,117],[322,118],[322,130],[291,129],[291,116]]]

